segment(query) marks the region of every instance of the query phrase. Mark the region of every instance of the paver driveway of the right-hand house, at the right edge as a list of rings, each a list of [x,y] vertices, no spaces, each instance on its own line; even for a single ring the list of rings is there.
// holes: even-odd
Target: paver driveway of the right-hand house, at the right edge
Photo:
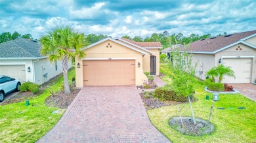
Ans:
[[[230,84],[234,89],[238,90],[242,95],[256,101],[256,85],[254,84]]]

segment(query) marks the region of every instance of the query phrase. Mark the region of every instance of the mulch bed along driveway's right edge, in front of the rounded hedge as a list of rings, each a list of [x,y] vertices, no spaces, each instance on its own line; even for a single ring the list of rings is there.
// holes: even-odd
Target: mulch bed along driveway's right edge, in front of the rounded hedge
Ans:
[[[146,110],[154,109],[154,108],[160,108],[162,106],[171,106],[176,104],[184,104],[188,102],[177,102],[177,101],[159,101],[157,98],[150,95],[149,98],[146,98],[143,93],[140,93],[140,98],[142,99],[142,102],[144,103],[144,106]],[[196,98],[192,99],[191,102],[198,101]]]

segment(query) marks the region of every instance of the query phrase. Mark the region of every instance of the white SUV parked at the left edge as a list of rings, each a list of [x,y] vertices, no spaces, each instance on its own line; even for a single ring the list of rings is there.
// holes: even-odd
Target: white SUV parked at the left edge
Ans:
[[[20,80],[9,76],[0,76],[0,103],[5,99],[5,95],[12,91],[20,91]]]

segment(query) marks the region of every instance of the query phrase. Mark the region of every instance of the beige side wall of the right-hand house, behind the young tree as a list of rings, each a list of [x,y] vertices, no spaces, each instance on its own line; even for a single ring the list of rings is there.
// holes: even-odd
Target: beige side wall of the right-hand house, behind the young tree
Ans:
[[[196,67],[196,76],[205,79],[205,72],[213,68],[215,65],[215,57],[213,54],[193,54],[192,63],[198,63]],[[202,71],[200,73],[200,71]]]

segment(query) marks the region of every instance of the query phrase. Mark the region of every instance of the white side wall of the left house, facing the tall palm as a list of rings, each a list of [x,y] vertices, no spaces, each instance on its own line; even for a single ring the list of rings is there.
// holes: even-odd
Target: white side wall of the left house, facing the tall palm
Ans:
[[[34,68],[35,68],[35,83],[43,84],[47,82],[54,76],[62,73],[62,63],[61,61],[57,61],[57,70],[55,69],[55,63],[51,63],[47,58],[39,59],[39,61],[33,60]],[[72,62],[68,63],[68,69],[72,67]],[[33,69],[33,68],[32,68]],[[47,73],[47,78],[43,77],[43,74]]]

